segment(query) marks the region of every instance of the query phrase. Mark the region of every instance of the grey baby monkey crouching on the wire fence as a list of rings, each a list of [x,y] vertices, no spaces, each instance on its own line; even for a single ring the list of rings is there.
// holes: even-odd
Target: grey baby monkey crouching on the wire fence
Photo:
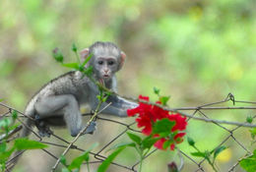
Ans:
[[[115,73],[119,71],[125,61],[126,55],[114,43],[97,41],[89,48],[81,51],[84,61],[89,55],[92,58],[86,65],[93,67],[92,77],[103,83],[105,87],[116,91]],[[35,125],[41,137],[49,137],[51,131],[48,126],[67,126],[72,137],[76,137],[85,127],[82,124],[80,112],[81,104],[89,104],[96,110],[99,93],[97,86],[80,71],[66,73],[43,86],[28,103],[25,114],[35,119],[27,119],[21,137],[30,135],[29,127]],[[109,102],[110,105],[101,113],[118,117],[127,117],[126,110],[134,108],[137,103],[109,95],[106,102],[101,104],[101,109]],[[96,122],[91,123],[84,134],[92,134],[96,130]]]

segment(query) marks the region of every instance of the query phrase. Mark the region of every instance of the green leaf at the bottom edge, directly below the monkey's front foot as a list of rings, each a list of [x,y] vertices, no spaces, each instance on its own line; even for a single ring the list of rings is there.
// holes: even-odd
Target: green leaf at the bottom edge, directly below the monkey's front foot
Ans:
[[[98,145],[98,143],[94,143],[88,150],[86,150],[82,155],[76,157],[71,164],[68,166],[69,170],[72,169],[80,169],[81,165],[83,164],[84,161],[89,161],[89,153],[90,151],[95,148]]]

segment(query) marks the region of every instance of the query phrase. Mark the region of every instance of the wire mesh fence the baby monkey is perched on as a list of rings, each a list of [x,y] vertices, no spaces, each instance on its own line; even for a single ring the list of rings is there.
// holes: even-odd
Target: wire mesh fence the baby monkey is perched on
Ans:
[[[226,106],[225,103],[226,102],[231,102],[232,105],[230,106]],[[242,106],[237,106],[242,104]],[[3,117],[8,117],[11,115],[12,111],[15,110],[12,107],[7,106],[6,104],[0,103],[0,111],[1,111],[1,116],[0,116],[0,120]],[[196,121],[196,120],[200,120],[202,122],[205,123],[212,123],[213,125],[215,125],[216,127],[218,127],[219,129],[221,129],[222,131],[224,131],[224,138],[220,139],[220,141],[218,140],[218,144],[216,145],[216,148],[220,147],[221,145],[224,145],[225,143],[233,143],[235,144],[235,148],[240,149],[239,152],[241,152],[238,156],[237,159],[235,159],[233,162],[229,162],[229,167],[228,167],[228,172],[232,172],[232,171],[237,171],[237,168],[239,168],[238,164],[239,161],[245,157],[247,157],[248,155],[251,155],[252,152],[250,150],[250,148],[248,147],[247,143],[244,143],[243,141],[240,141],[237,136],[235,136],[235,132],[244,129],[246,127],[255,127],[255,125],[253,124],[249,124],[246,122],[246,116],[243,116],[241,118],[241,121],[244,122],[231,122],[231,121],[223,121],[223,120],[216,120],[216,119],[212,119],[210,118],[211,114],[216,114],[217,111],[233,111],[233,110],[239,110],[242,111],[242,114],[248,114],[248,110],[253,111],[256,110],[256,102],[252,102],[252,101],[241,101],[241,100],[235,100],[234,96],[229,93],[227,95],[226,98],[224,98],[224,100],[221,101],[217,101],[217,102],[213,102],[213,103],[207,103],[204,105],[200,105],[200,106],[196,106],[196,107],[180,107],[180,108],[172,108],[172,109],[168,109],[169,111],[175,111],[175,112],[180,112],[182,115],[187,116],[187,121],[188,121],[188,126],[190,125],[190,123],[192,121]],[[187,113],[188,112],[188,113]],[[19,117],[18,120],[23,123],[23,119],[26,118],[26,116],[24,116],[24,114],[20,111],[18,111],[19,113]],[[252,112],[250,112],[252,113]],[[90,116],[91,114],[84,114],[84,116]],[[252,116],[252,118],[255,118],[255,116]],[[104,152],[106,149],[108,149],[110,147],[110,145],[112,145],[113,143],[117,143],[117,141],[119,142],[119,140],[121,140],[121,137],[123,137],[128,131],[132,131],[132,132],[138,132],[140,133],[139,130],[136,129],[136,123],[135,122],[130,122],[130,123],[126,123],[126,122],[120,122],[117,118],[107,118],[107,117],[96,117],[97,121],[102,121],[104,123],[109,123],[108,125],[111,126],[112,124],[115,125],[120,125],[122,126],[122,131],[118,131],[119,134],[117,134],[116,136],[114,136],[114,138],[110,139],[109,142],[101,144],[99,150],[97,151],[91,151],[91,161],[89,162],[90,164],[100,164],[103,160],[106,159],[106,156],[104,155]],[[208,124],[207,124],[208,125]],[[21,126],[19,126],[16,131],[13,131],[13,134],[9,134],[9,135],[13,135],[9,141],[14,140],[15,138],[17,138],[17,134],[19,134],[20,130],[22,129]],[[31,129],[32,130],[32,129]],[[207,132],[207,130],[206,130]],[[50,146],[56,146],[56,147],[61,147],[61,148],[68,148],[68,151],[71,150],[79,150],[79,151],[86,151],[86,149],[84,149],[82,146],[79,146],[76,143],[72,143],[66,139],[64,139],[64,137],[58,136],[56,134],[52,134],[52,138],[54,138],[56,140],[58,140],[58,142],[50,142],[51,140],[47,140],[45,141],[44,138],[39,137],[35,132],[32,132],[32,135],[34,135],[37,138],[37,141],[41,142],[41,143],[46,143]],[[213,134],[214,135],[214,134]],[[51,138],[51,139],[52,139]],[[211,142],[211,141],[209,141]],[[255,143],[255,141],[254,141]],[[191,171],[209,171],[209,168],[207,168],[207,160],[206,158],[195,158],[194,156],[192,156],[189,152],[182,150],[181,148],[176,148],[180,154],[180,156],[177,156],[179,159],[178,161],[180,161],[180,167],[182,168],[183,166],[186,166],[186,163],[192,163],[194,164],[195,168]],[[52,157],[55,161],[58,161],[59,156],[54,154],[51,150],[48,149],[41,149],[42,151],[44,151],[45,153],[47,153],[48,156]],[[149,154],[147,155],[146,158],[149,158],[150,156],[152,156],[154,153],[156,153],[158,151],[158,149],[153,149],[151,152],[149,152]],[[23,152],[21,152],[18,156],[20,156]],[[17,157],[14,157],[17,158]],[[185,163],[183,163],[183,159],[185,159]],[[12,165],[12,160],[10,159],[9,162],[7,163],[7,167],[10,167]],[[138,164],[140,163],[140,161],[136,161],[135,163],[133,163],[132,165],[126,165],[124,163],[120,163],[120,162],[115,162],[113,161],[111,163],[111,166],[116,166],[119,168],[118,171],[137,171],[138,168]],[[58,163],[55,163],[56,166],[59,166]],[[224,171],[223,169],[219,169],[220,171]],[[239,169],[241,170],[241,169]],[[52,171],[55,171],[55,168],[52,168]],[[181,170],[182,171],[182,170]]]

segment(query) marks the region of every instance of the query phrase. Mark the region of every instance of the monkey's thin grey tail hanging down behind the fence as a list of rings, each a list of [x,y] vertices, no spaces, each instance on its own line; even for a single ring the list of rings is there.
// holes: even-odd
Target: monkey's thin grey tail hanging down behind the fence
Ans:
[[[32,117],[33,113],[28,114],[28,115]],[[30,134],[32,133],[32,126],[33,126],[33,121],[29,118],[26,118],[26,120],[24,121],[23,129],[20,133],[19,138],[29,137]],[[12,171],[13,170],[13,168],[18,163],[18,160],[19,160],[19,158],[20,158],[20,156],[22,155],[23,152],[24,152],[24,150],[17,150],[15,152],[13,152],[13,154],[11,155],[11,157],[9,158],[9,160],[6,163],[6,171]]]

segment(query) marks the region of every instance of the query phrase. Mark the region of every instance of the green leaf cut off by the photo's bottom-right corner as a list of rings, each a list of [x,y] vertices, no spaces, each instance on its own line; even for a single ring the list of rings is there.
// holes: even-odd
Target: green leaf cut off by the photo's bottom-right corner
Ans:
[[[256,149],[253,151],[253,155],[245,159],[242,159],[239,162],[239,164],[247,172],[255,172],[256,171]]]

